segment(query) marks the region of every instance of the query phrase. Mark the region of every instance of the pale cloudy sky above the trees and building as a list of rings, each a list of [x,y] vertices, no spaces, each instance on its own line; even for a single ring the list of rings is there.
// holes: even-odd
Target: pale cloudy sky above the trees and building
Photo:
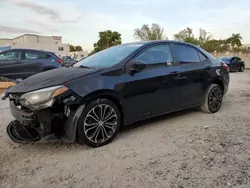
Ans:
[[[158,23],[169,39],[189,26],[214,38],[240,33],[250,43],[249,10],[249,0],[0,0],[0,38],[59,35],[91,50],[99,31],[116,30],[130,42],[135,28]]]

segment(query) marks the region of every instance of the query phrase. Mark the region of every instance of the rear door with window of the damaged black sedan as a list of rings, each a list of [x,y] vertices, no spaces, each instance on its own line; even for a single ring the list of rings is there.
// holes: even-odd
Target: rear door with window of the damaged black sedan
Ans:
[[[174,44],[174,53],[180,63],[181,103],[184,108],[203,101],[209,86],[212,63],[193,46]]]

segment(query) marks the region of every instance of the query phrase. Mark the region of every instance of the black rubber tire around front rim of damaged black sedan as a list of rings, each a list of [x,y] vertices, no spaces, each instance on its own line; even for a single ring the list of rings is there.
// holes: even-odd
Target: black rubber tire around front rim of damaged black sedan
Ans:
[[[114,110],[114,118],[116,119],[117,123],[115,125],[112,125],[112,126],[110,126],[110,124],[109,124],[108,126],[112,127],[111,129],[107,129],[107,127],[106,127],[107,124],[105,123],[105,120],[104,120],[105,119],[105,117],[104,117],[105,116],[105,109],[104,109],[103,113],[98,112],[98,108],[100,108],[100,110],[102,110],[104,107]],[[98,123],[96,123],[97,128],[92,129],[92,130],[94,130],[93,133],[91,133],[91,135],[88,135],[88,131],[89,130],[92,131],[92,130],[88,126],[85,126],[86,122],[91,121],[91,120],[93,122],[97,122],[92,118],[93,116],[90,115],[90,113],[93,113],[93,110],[94,110],[95,114],[97,115],[97,117],[100,114],[104,114],[104,115],[100,115],[103,117],[99,117]],[[110,110],[110,111],[112,111],[112,110]],[[111,114],[111,116],[113,116],[113,115]],[[102,122],[102,125],[99,124],[100,121]],[[115,121],[115,120],[113,120],[113,121]],[[89,125],[95,124],[93,122],[90,123]],[[78,121],[78,126],[77,126],[78,141],[81,144],[86,144],[90,147],[100,147],[100,146],[106,145],[109,142],[111,142],[114,139],[114,137],[117,135],[117,133],[120,129],[120,125],[121,125],[121,114],[120,114],[120,111],[118,110],[117,106],[112,101],[110,101],[108,99],[97,99],[95,101],[90,102],[86,106],[86,108],[84,109],[84,111],[83,111],[83,113]],[[92,126],[92,128],[95,126]],[[86,127],[88,128],[88,130]],[[99,131],[97,129],[99,129]],[[104,132],[104,130],[105,130],[105,132]],[[107,132],[107,130],[108,130],[108,132]],[[95,131],[96,131],[96,133],[94,133]],[[109,135],[110,132],[112,132],[112,133]],[[97,139],[99,136],[101,136],[100,134],[102,134],[102,141],[99,142],[97,139],[95,139],[96,141],[91,140],[91,137],[93,137],[92,135],[95,135],[95,134],[97,136],[94,136],[94,138],[96,137]],[[104,140],[104,134],[105,134],[105,136],[107,136],[107,135],[109,136],[109,137],[107,136],[106,140]]]

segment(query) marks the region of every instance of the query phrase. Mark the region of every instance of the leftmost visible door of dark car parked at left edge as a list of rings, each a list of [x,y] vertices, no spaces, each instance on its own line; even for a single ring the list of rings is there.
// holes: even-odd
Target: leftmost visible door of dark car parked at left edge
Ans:
[[[8,50],[0,53],[0,76],[9,79],[23,77],[21,63],[23,60],[22,50]]]

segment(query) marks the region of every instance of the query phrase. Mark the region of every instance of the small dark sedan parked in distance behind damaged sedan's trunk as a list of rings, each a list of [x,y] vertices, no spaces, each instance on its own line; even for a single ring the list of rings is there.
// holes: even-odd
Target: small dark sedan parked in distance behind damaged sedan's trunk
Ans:
[[[229,71],[240,71],[243,72],[245,69],[245,62],[236,56],[224,56],[221,60],[227,64]]]

